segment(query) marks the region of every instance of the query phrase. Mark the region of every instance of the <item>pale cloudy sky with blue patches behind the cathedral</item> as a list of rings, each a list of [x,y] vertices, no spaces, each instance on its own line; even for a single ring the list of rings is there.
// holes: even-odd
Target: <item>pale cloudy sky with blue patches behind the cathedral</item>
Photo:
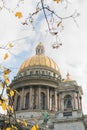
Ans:
[[[9,52],[4,49],[0,50],[0,64],[12,70],[10,75],[12,79],[21,63],[34,55],[36,45],[42,42],[46,48],[46,55],[58,64],[62,77],[66,78],[66,74],[69,72],[71,78],[82,86],[83,112],[87,114],[87,0],[68,0],[67,10],[64,8],[65,3],[59,6],[52,0],[47,0],[47,4],[50,4],[52,10],[58,12],[58,15],[69,16],[75,10],[80,13],[76,23],[72,18],[63,21],[64,30],[58,35],[62,42],[59,49],[52,49],[56,36],[49,34],[42,14],[35,18],[34,29],[30,24],[25,26],[21,24],[29,13],[34,12],[35,1],[21,1],[20,6],[16,8],[18,0],[15,2],[6,0],[5,5],[9,8],[8,10],[2,8],[3,3],[0,0],[0,47],[9,43],[13,44],[13,48]],[[21,19],[15,17],[17,11],[22,12]],[[6,52],[9,53],[9,58],[4,61],[3,55]]]

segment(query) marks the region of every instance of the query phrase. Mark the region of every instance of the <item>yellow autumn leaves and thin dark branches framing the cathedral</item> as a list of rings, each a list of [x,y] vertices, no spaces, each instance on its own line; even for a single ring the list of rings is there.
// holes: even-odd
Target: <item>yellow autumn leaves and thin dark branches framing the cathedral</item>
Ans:
[[[20,5],[20,2],[23,0],[19,0],[18,5]],[[62,0],[53,0],[53,2],[56,2],[57,4],[61,3]],[[10,10],[9,8],[6,8],[5,4],[4,4],[4,0],[2,0],[3,6],[0,7],[1,10],[2,9],[6,9],[6,10]],[[39,6],[41,5],[41,6]],[[21,18],[23,18],[23,13],[21,11],[12,11],[14,14],[15,18],[18,18],[19,20]],[[15,12],[15,13],[14,13]],[[29,23],[31,23],[33,25],[34,22],[34,16],[38,15],[39,12],[43,12],[44,13],[44,18],[46,20],[47,23],[47,27],[48,27],[48,31],[51,35],[56,36],[56,43],[52,45],[52,48],[59,48],[60,46],[62,46],[62,43],[57,41],[57,36],[58,36],[58,29],[61,27],[63,29],[63,19],[67,19],[67,18],[75,18],[74,14],[71,14],[68,17],[60,17],[59,15],[57,15],[57,12],[54,12],[48,5],[46,5],[46,3],[44,2],[44,0],[40,0],[39,2],[37,2],[37,6],[36,6],[36,10],[34,12],[31,12],[29,14],[29,16],[27,18],[25,18],[24,22],[22,22],[22,25],[28,25]],[[48,14],[51,14],[50,17],[48,17]],[[56,22],[56,26],[53,26],[53,23],[55,21],[55,17],[57,20]],[[50,22],[49,22],[50,21]],[[50,24],[51,23],[51,24]],[[14,44],[12,42],[8,43],[8,45],[6,47],[0,47],[1,50],[6,50],[6,52],[3,55],[3,60],[6,62],[6,60],[8,60],[9,58],[9,49],[12,49],[14,47]],[[4,126],[2,128],[2,130],[25,130],[26,127],[28,127],[28,122],[26,120],[18,120],[16,118],[16,113],[13,107],[13,98],[15,96],[15,94],[19,94],[17,92],[17,90],[12,90],[9,86],[10,86],[10,78],[9,78],[9,74],[11,73],[12,70],[10,70],[9,68],[7,68],[6,66],[2,66],[0,65],[0,68],[2,68],[3,72],[2,72],[2,80],[0,81],[0,88],[1,88],[1,94],[0,94],[0,106],[2,107],[2,109],[4,111],[7,112],[7,116],[4,122]],[[4,97],[4,91],[6,91],[7,94],[7,98]],[[38,122],[36,121],[35,125],[33,125],[31,127],[31,130],[39,130],[39,125]]]

